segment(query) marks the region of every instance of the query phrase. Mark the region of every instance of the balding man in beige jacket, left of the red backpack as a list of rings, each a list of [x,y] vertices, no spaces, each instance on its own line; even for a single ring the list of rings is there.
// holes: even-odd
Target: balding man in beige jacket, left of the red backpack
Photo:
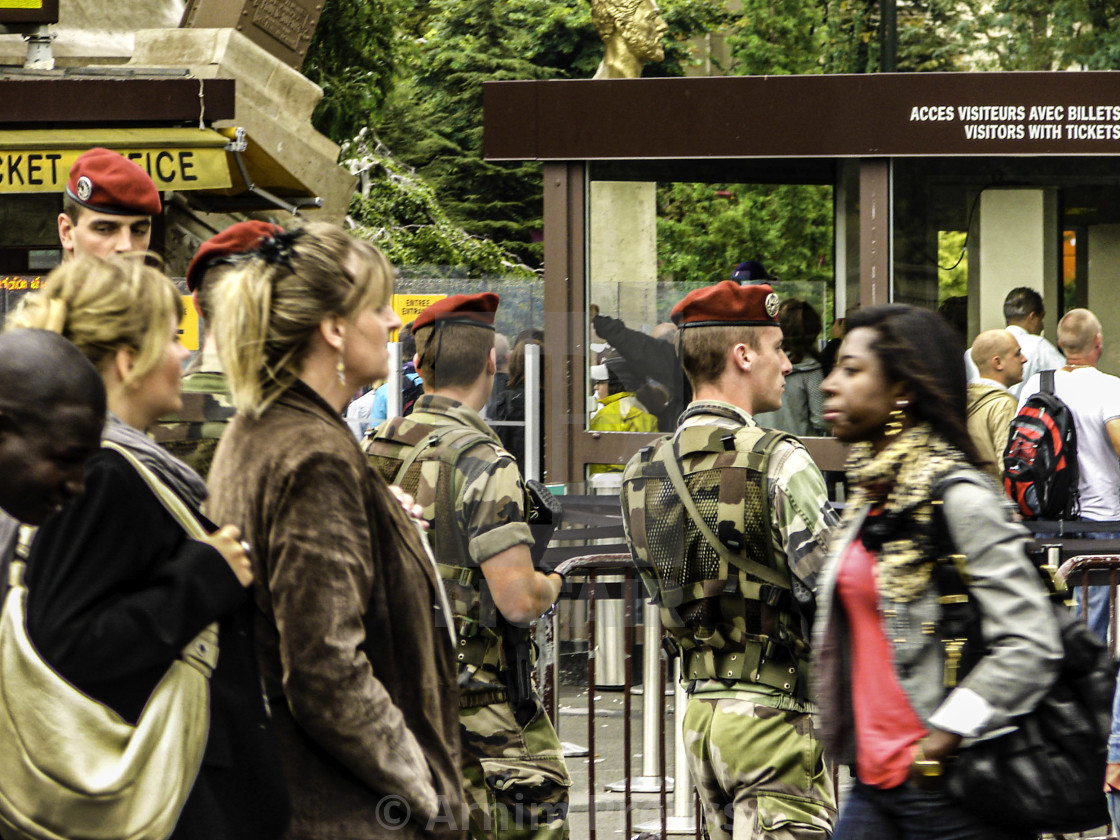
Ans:
[[[1006,329],[977,336],[969,351],[980,377],[969,383],[969,435],[987,461],[984,470],[1004,480],[1004,448],[1018,401],[1008,390],[1023,381],[1026,357],[1019,339]]]

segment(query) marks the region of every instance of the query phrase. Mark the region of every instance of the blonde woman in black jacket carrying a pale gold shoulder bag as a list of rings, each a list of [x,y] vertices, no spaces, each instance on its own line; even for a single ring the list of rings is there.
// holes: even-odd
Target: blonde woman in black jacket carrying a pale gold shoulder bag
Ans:
[[[105,384],[103,438],[197,511],[202,479],[142,431],[180,408],[180,316],[178,292],[158,270],[86,256],[53,271],[7,327],[73,342]],[[27,569],[28,632],[39,652],[127,720],[139,718],[180,650],[220,622],[206,754],[171,837],[278,836],[287,799],[248,635],[252,572],[237,529],[188,538],[129,460],[103,448],[86,466],[84,494],[39,528]]]

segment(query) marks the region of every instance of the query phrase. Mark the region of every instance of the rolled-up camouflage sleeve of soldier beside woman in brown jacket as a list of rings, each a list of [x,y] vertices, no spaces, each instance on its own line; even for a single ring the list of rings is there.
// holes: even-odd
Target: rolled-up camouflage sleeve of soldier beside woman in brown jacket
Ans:
[[[514,545],[533,544],[525,523],[525,487],[517,463],[507,452],[489,452],[492,457],[483,459],[468,451],[459,461],[467,477],[459,496],[459,524],[476,563]]]

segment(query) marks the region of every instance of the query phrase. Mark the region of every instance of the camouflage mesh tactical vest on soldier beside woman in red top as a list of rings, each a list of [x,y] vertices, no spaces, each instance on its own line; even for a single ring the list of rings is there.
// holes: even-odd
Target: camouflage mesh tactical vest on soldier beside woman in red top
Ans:
[[[774,551],[766,467],[785,432],[743,426],[682,429],[644,448],[623,474],[631,544],[685,680],[759,683],[805,694],[806,628]],[[675,455],[674,455],[675,452]],[[680,476],[709,532],[674,488]]]

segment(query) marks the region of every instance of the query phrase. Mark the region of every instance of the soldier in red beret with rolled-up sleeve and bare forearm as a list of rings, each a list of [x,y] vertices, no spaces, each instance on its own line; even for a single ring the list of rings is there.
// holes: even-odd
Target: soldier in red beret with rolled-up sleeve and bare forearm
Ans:
[[[562,581],[533,568],[525,485],[478,414],[494,382],[497,304],[489,292],[456,295],[417,317],[417,370],[427,393],[364,447],[431,525],[459,637],[472,837],[563,840],[571,780],[528,679],[528,625],[554,604]]]

